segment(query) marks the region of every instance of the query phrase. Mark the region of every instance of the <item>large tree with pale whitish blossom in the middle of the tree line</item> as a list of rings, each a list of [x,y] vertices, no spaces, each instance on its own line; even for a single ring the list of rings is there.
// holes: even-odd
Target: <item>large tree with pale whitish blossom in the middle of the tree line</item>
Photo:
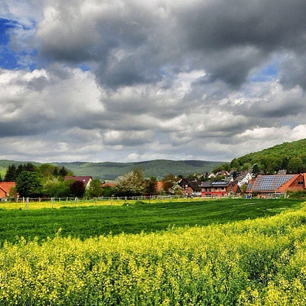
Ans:
[[[114,191],[118,196],[140,195],[145,191],[145,179],[142,169],[136,168],[118,176],[116,181]]]

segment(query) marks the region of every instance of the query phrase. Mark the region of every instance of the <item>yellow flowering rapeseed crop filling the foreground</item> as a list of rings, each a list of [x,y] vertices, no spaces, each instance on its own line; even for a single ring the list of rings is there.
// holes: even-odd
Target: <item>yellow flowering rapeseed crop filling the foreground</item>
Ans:
[[[224,225],[5,242],[0,305],[304,305],[306,207]]]

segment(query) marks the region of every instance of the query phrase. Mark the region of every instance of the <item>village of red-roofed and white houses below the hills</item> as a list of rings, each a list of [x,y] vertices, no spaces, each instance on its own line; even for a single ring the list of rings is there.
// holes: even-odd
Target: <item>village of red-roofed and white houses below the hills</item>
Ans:
[[[275,174],[254,174],[252,169],[248,170],[221,170],[216,173],[194,174],[182,177],[182,175],[175,176],[169,174],[163,180],[154,178],[153,182],[149,179],[146,181],[151,183],[150,189],[143,190],[143,192],[135,192],[133,195],[142,195],[147,197],[154,196],[183,196],[183,197],[200,197],[200,198],[234,198],[234,197],[286,197],[290,193],[306,190],[306,173],[292,174],[286,173],[286,170],[279,170]],[[170,179],[167,179],[170,178]],[[151,178],[150,178],[151,179]],[[83,188],[83,192],[77,194],[77,197],[113,197],[114,190],[117,186],[117,181],[99,181],[93,179],[92,176],[75,176],[67,175],[63,177],[63,183],[76,182]],[[101,192],[100,193],[86,193],[90,188],[93,188],[94,183],[98,182]],[[129,182],[123,182],[128,184]],[[108,192],[102,192],[103,190]],[[131,195],[124,194],[120,195]],[[22,194],[21,194],[22,196]],[[7,198],[17,198],[18,193],[15,190],[15,181],[0,182],[0,199],[6,201]],[[47,197],[43,193],[39,196]],[[68,196],[67,196],[68,198]],[[23,198],[24,200],[24,198]]]

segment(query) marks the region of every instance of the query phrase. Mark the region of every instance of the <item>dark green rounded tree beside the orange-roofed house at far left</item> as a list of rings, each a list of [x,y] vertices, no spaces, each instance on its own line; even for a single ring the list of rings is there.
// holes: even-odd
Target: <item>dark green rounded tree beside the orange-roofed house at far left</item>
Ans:
[[[16,191],[20,196],[40,196],[42,184],[38,174],[31,171],[22,171],[16,178]]]

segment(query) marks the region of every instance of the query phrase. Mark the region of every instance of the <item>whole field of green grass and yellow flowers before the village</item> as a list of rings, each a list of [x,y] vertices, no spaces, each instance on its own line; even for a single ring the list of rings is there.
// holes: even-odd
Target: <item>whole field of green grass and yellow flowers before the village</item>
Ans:
[[[0,305],[305,305],[305,205],[220,200],[3,209],[1,224],[9,219],[15,232],[43,236],[52,222],[54,230],[66,222],[84,239],[57,234],[45,241],[5,242]],[[158,231],[172,222],[208,225]],[[26,228],[35,223],[41,228]],[[85,238],[95,226],[109,229],[100,224],[156,232]]]

